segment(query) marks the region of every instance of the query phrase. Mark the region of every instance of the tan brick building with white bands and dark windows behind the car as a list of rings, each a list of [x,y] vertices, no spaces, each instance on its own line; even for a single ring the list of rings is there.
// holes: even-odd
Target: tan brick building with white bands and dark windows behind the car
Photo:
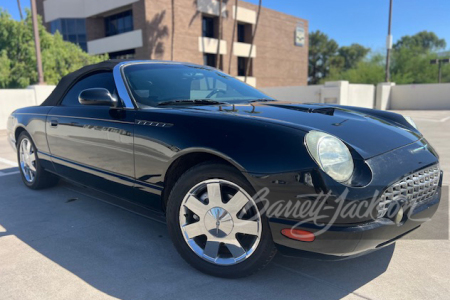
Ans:
[[[217,0],[37,0],[48,31],[59,31],[93,55],[210,66],[219,60],[222,70],[239,79],[250,56],[251,85],[307,84],[306,20],[262,7],[249,55],[258,6],[224,0],[221,39],[219,6]]]

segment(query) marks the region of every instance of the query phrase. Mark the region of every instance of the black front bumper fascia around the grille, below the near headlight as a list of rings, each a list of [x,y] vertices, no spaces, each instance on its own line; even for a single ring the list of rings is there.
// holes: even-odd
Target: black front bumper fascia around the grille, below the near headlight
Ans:
[[[366,160],[364,163],[370,168],[372,176],[370,183],[361,187],[338,184],[320,169],[249,177],[257,191],[263,188],[270,190],[270,194],[266,197],[268,207],[281,207],[278,204],[282,203],[285,210],[278,209],[278,211],[293,212],[274,215],[273,211],[272,213],[267,211],[273,240],[281,252],[290,255],[314,253],[337,258],[359,255],[387,246],[431,219],[439,206],[442,172],[439,174],[436,193],[416,206],[404,206],[407,211],[400,219],[392,216],[377,218],[379,211],[377,205],[375,208],[370,207],[370,203],[376,203],[373,201],[376,200],[374,195],[379,197],[383,191],[399,180],[409,178],[411,174],[439,163],[435,151],[431,146],[423,147],[424,143],[425,140],[420,140]],[[376,194],[377,192],[381,194]],[[331,197],[318,198],[317,195],[321,193],[329,194]],[[313,197],[308,198],[308,195]],[[336,204],[339,197],[343,198],[342,207],[347,204],[349,207],[359,207],[360,204],[368,203],[368,207],[365,208],[367,213],[362,216],[349,216],[350,214],[341,216],[336,213],[342,209]],[[296,211],[301,210],[299,207],[308,201],[318,203],[318,207],[320,203],[324,203],[322,208],[314,211],[314,216],[323,215],[325,216],[323,219],[314,219],[311,215],[306,217],[301,214],[295,215]],[[400,203],[397,200],[394,202]],[[287,206],[287,203],[291,203],[291,206]],[[299,206],[294,209],[296,204]],[[336,218],[333,219],[334,215]],[[312,232],[315,240],[303,242],[281,233],[283,229],[291,228]]]

